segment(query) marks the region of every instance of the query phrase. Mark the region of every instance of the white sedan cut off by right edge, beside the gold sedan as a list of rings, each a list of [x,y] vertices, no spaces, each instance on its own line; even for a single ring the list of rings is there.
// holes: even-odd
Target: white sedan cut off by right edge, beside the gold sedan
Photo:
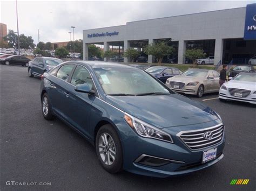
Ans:
[[[256,104],[256,73],[240,73],[224,83],[219,90],[219,100]]]

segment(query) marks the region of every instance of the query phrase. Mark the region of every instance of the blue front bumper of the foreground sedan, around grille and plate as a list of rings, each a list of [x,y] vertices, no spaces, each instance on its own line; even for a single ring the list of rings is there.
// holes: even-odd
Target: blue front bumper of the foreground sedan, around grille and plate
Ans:
[[[165,178],[167,176],[195,172],[212,166],[224,157],[225,133],[221,142],[198,151],[190,150],[176,135],[183,130],[204,129],[219,123],[220,121],[217,120],[197,125],[164,128],[163,130],[172,136],[174,144],[139,136],[126,139],[122,142],[124,148],[124,169],[136,174]],[[217,148],[217,157],[202,164],[203,151],[210,150],[211,148]],[[142,155],[166,159],[169,162],[162,166],[140,164],[138,161]]]

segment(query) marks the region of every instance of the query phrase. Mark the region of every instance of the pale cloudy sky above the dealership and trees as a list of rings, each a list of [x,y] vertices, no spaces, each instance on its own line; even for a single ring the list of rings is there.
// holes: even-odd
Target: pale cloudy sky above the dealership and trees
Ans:
[[[244,7],[255,1],[21,1],[17,0],[19,33],[40,41],[69,41],[75,28],[75,39],[83,30],[125,25],[136,20],[170,17]],[[17,31],[16,2],[1,1],[0,23]],[[72,33],[73,39],[73,33]]]

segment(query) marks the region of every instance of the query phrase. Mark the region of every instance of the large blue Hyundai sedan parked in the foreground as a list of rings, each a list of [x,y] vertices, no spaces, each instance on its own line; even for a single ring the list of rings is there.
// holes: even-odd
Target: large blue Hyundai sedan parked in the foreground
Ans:
[[[82,134],[110,173],[166,177],[224,157],[220,116],[135,67],[64,62],[44,73],[40,96],[44,118]]]

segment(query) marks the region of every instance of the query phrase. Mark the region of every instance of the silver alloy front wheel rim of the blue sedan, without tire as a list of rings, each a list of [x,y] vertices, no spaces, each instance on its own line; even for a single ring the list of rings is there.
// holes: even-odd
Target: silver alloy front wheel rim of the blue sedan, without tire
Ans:
[[[99,154],[100,158],[106,165],[112,165],[116,158],[116,145],[109,133],[102,133],[99,137]]]

